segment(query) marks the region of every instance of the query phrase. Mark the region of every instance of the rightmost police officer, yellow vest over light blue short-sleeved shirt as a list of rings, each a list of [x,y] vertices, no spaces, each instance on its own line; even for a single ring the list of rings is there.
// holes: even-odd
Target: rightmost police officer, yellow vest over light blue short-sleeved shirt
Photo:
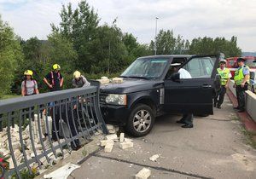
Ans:
[[[238,113],[245,111],[245,91],[247,90],[248,84],[250,84],[250,69],[244,64],[243,58],[237,59],[238,68],[235,72],[234,80],[236,88],[236,98],[238,106],[234,107],[238,109]]]

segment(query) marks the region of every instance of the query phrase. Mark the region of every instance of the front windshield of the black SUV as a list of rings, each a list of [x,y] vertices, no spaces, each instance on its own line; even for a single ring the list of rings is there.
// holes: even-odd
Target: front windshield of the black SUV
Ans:
[[[143,58],[134,61],[125,72],[121,74],[124,78],[159,78],[164,72],[167,59]]]

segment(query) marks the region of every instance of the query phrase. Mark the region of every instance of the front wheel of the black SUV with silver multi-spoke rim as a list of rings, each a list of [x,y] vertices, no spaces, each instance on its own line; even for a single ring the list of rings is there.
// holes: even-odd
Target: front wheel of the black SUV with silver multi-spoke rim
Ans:
[[[151,107],[144,104],[137,104],[131,111],[126,124],[132,136],[146,136],[154,125],[154,113]]]

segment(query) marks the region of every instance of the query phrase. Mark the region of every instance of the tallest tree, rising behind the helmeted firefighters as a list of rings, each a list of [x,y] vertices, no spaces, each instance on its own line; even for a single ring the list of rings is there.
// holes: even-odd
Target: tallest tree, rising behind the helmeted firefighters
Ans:
[[[77,51],[78,59],[74,61],[77,68],[82,68],[84,72],[90,72],[90,63],[94,51],[91,51],[92,41],[96,40],[97,27],[99,23],[98,14],[86,1],[81,1],[77,9],[72,8],[71,3],[62,6],[60,26],[52,25],[53,32],[60,32],[73,43],[73,48]]]

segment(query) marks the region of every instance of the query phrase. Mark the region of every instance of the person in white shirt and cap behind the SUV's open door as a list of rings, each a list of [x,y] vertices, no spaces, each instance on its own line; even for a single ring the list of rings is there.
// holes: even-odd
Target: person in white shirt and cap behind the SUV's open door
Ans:
[[[180,68],[178,70],[178,66],[181,66],[180,63],[172,63],[171,66],[172,66],[172,72],[178,72],[180,79],[192,78],[191,74],[187,70],[183,68]],[[183,113],[183,118],[179,119],[177,123],[183,124],[182,128],[193,128],[194,127],[193,118],[194,118],[193,113]]]

